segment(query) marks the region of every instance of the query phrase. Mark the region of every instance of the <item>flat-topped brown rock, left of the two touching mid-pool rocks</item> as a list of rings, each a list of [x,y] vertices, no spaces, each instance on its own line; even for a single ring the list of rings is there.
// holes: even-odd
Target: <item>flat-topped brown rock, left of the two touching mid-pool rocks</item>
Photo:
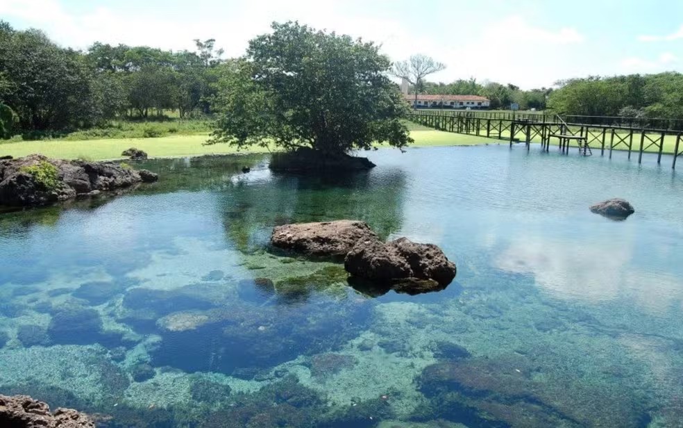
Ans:
[[[271,235],[274,247],[324,258],[342,259],[358,242],[379,242],[379,237],[357,220],[285,224]]]

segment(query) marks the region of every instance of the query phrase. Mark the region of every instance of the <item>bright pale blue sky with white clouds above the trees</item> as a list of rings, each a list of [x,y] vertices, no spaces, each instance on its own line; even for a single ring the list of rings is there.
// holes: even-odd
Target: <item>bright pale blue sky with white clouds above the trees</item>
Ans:
[[[683,72],[683,0],[0,0],[0,19],[65,47],[93,42],[194,49],[216,39],[240,56],[271,22],[298,20],[415,53],[446,69],[523,89],[589,75]]]

